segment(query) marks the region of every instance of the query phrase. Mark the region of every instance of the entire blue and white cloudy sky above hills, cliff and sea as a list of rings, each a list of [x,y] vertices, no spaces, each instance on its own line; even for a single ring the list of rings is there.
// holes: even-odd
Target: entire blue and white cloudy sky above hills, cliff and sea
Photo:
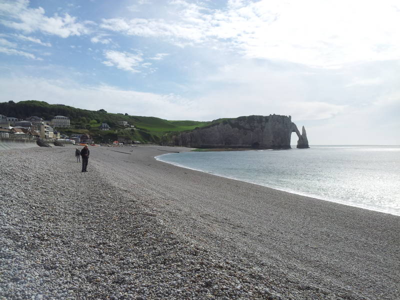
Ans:
[[[0,102],[400,144],[398,28],[398,0],[0,0]]]

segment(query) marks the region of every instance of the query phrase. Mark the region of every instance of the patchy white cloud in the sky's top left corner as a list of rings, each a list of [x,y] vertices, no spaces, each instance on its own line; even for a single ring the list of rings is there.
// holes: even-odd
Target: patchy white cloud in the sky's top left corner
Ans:
[[[41,31],[61,37],[81,35],[88,33],[89,29],[83,23],[76,21],[76,17],[65,13],[59,16],[55,13],[52,17],[45,16],[42,7],[30,8],[27,0],[5,0],[0,3],[0,14],[7,17],[1,23],[7,27],[30,33]]]

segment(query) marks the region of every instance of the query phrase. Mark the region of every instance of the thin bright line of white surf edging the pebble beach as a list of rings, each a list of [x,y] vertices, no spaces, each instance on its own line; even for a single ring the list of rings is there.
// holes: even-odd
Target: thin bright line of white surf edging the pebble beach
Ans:
[[[248,151],[252,151],[252,150],[248,150]],[[210,174],[210,175],[214,175],[214,176],[218,176],[218,177],[222,177],[222,178],[228,178],[228,179],[232,179],[232,180],[237,180],[237,181],[241,181],[241,182],[246,182],[246,183],[255,184],[255,185],[259,185],[259,186],[264,186],[264,187],[276,189],[276,190],[283,191],[283,192],[292,193],[292,194],[299,195],[299,196],[315,198],[315,199],[318,199],[318,200],[333,202],[333,203],[342,204],[342,205],[345,205],[345,206],[357,207],[357,208],[362,208],[362,209],[366,209],[366,210],[370,210],[370,211],[375,211],[375,212],[387,213],[387,214],[390,214],[390,215],[400,216],[400,214],[390,213],[390,212],[383,211],[383,210],[376,210],[376,208],[374,209],[374,208],[369,208],[367,206],[351,205],[349,203],[346,203],[346,202],[343,202],[343,201],[340,201],[340,200],[337,200],[337,199],[322,198],[319,195],[314,195],[314,194],[311,194],[311,193],[302,193],[302,192],[297,191],[297,190],[283,189],[283,188],[278,188],[278,187],[274,187],[274,186],[263,185],[263,184],[259,184],[259,183],[255,183],[255,182],[251,182],[251,181],[235,178],[235,177],[229,177],[229,176],[225,176],[225,175],[221,175],[221,174],[217,174],[217,173],[213,173],[213,172],[204,171],[204,170],[201,170],[201,169],[191,168],[191,167],[179,164],[179,163],[173,163],[173,162],[169,162],[169,161],[164,161],[164,160],[162,160],[160,158],[157,158],[159,156],[166,155],[166,154],[170,154],[170,153],[160,154],[160,155],[154,156],[154,158],[156,160],[158,160],[158,161],[169,163],[169,164],[174,165],[174,166],[182,167],[182,168],[189,169],[189,170],[199,171],[199,172],[203,172],[203,173],[206,173],[206,174]]]

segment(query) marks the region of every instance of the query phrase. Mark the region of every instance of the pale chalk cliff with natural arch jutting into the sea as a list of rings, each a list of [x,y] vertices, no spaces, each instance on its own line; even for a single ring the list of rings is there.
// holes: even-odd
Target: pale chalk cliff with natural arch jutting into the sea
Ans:
[[[291,132],[299,136],[297,147],[308,148],[290,116],[250,115],[227,119],[206,127],[181,132],[172,137],[172,143],[194,148],[290,148]],[[301,141],[300,141],[301,139]]]

